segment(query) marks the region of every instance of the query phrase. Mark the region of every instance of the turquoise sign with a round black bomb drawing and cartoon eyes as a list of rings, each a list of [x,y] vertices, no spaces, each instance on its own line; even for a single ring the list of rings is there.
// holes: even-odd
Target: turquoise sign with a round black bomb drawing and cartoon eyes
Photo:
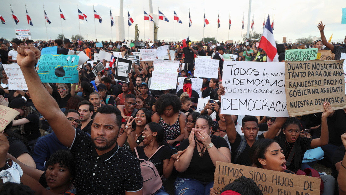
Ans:
[[[42,82],[76,83],[78,55],[41,55],[38,76]]]

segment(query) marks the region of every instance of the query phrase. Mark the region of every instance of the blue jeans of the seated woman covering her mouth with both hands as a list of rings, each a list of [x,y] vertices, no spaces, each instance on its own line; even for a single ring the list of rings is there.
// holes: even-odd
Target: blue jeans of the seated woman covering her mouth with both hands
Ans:
[[[179,178],[174,182],[175,195],[209,195],[214,182],[202,182],[196,179]]]

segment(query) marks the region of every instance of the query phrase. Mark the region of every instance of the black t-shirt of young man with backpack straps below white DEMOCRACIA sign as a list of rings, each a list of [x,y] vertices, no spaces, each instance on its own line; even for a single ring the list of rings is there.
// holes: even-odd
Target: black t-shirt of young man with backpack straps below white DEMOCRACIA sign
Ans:
[[[264,135],[258,135],[258,139],[264,138]],[[242,153],[239,154],[239,157],[237,159],[237,162],[234,162],[234,159],[236,158],[237,155],[237,148],[239,147],[240,143],[242,141],[242,136],[237,132],[236,139],[234,143],[229,143],[231,145],[231,163],[235,163],[238,165],[245,165],[245,166],[251,166],[251,159],[250,159],[250,150],[251,147],[249,144],[246,144],[246,147]]]

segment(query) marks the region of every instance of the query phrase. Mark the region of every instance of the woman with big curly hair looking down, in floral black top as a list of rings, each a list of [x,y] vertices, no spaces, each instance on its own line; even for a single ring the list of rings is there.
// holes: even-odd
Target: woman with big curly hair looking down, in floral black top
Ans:
[[[173,94],[164,94],[155,103],[156,112],[152,116],[152,122],[162,125],[165,141],[170,145],[184,139],[186,115],[180,109],[181,101]]]

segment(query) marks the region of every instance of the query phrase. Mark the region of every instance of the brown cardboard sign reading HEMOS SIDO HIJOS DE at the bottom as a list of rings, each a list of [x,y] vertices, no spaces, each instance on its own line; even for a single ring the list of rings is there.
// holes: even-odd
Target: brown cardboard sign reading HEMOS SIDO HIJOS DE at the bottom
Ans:
[[[236,165],[216,161],[213,188],[220,194],[221,190],[237,178],[251,178],[264,195],[319,195],[321,178],[295,175],[285,172]]]

